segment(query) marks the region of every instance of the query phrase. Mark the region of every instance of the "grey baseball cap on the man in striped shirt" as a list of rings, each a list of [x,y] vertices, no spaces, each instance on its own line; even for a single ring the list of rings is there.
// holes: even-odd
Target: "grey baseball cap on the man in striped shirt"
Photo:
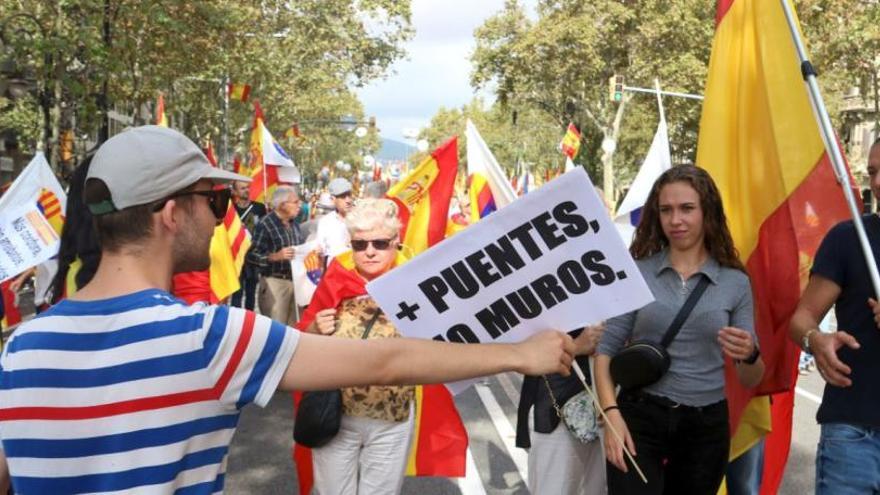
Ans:
[[[188,137],[155,125],[129,129],[102,144],[89,166],[89,179],[103,181],[110,191],[109,199],[88,205],[94,215],[158,201],[201,179],[251,181],[211,166]]]

